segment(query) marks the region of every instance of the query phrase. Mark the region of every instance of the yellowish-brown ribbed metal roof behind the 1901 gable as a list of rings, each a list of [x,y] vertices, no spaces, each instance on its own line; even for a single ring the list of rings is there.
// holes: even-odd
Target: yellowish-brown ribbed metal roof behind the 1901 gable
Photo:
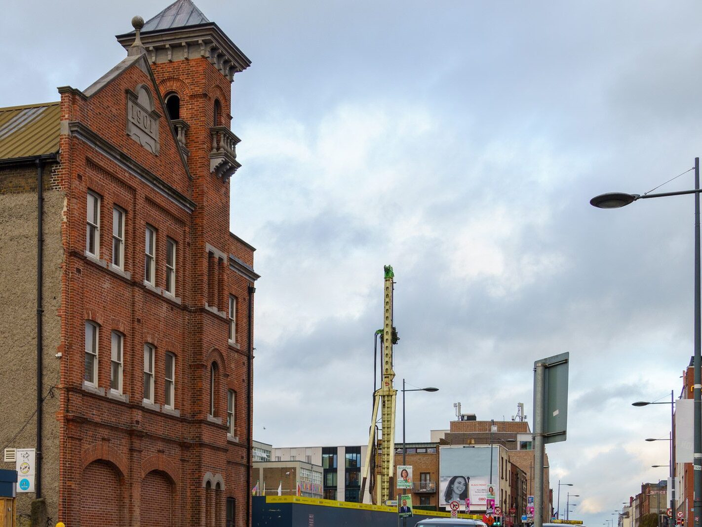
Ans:
[[[0,159],[58,152],[59,103],[0,108]]]

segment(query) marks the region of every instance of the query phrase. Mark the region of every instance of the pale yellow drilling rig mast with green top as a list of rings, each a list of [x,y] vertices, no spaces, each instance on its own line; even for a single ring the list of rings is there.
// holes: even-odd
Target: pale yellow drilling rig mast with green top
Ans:
[[[368,438],[368,454],[363,468],[363,481],[361,485],[361,495],[364,495],[366,480],[369,476],[369,467],[373,458],[373,440],[376,438],[376,423],[378,410],[380,410],[380,438],[378,438],[378,448],[380,448],[380,486],[370,488],[371,500],[376,503],[383,503],[390,500],[394,494],[392,491],[393,472],[395,470],[395,401],[397,390],[393,386],[395,371],[392,370],[392,279],[395,273],[392,266],[385,266],[385,288],[383,299],[383,382],[380,388],[373,394],[373,419],[371,421],[371,431]],[[377,492],[377,494],[376,494]],[[377,501],[376,501],[377,496]]]

